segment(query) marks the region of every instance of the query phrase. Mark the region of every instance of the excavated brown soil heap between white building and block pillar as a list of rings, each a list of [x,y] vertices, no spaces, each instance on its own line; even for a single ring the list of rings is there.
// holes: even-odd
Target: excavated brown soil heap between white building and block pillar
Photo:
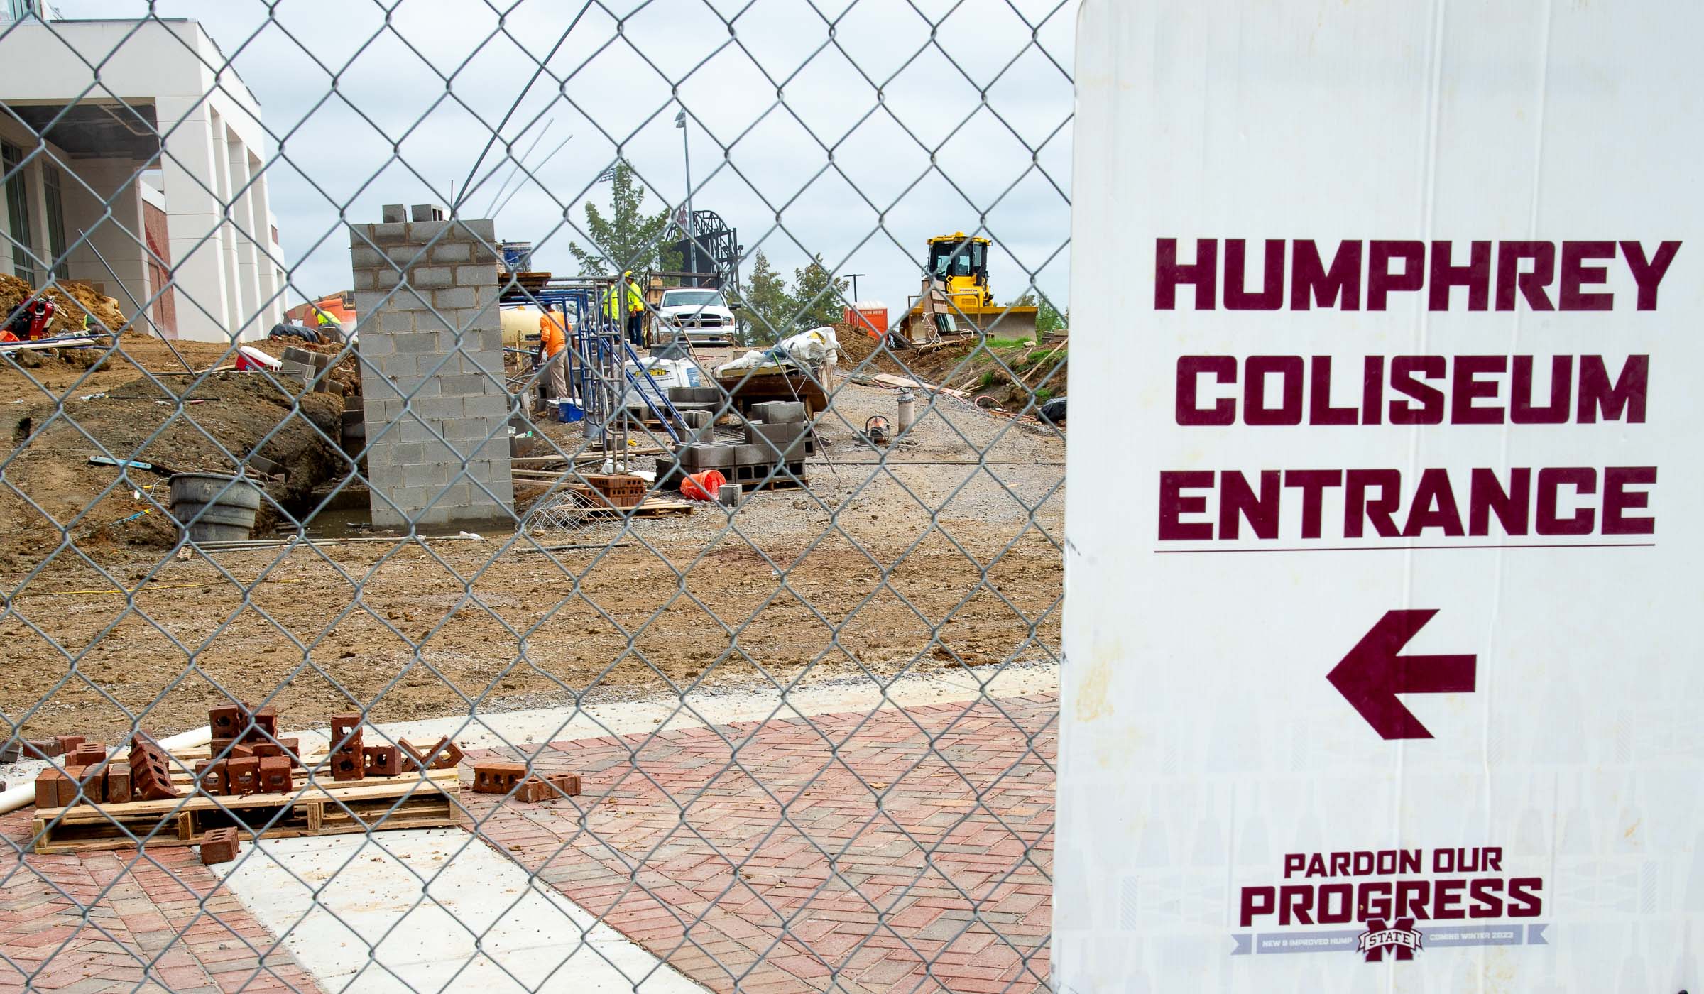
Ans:
[[[206,343],[177,348],[198,368],[225,351]],[[0,469],[0,568],[32,568],[66,539],[99,563],[121,563],[123,556],[111,556],[116,549],[176,542],[165,474],[121,474],[89,464],[90,455],[235,472],[259,452],[288,471],[288,479],[268,486],[273,503],[262,505],[262,532],[278,510],[302,505],[308,481],[346,465],[325,442],[337,436],[341,396],[298,397],[290,380],[182,372],[164,343],[138,336],[124,336],[111,353],[0,358],[0,425],[9,440]],[[138,511],[145,513],[131,518]],[[58,556],[77,552],[60,549]]]

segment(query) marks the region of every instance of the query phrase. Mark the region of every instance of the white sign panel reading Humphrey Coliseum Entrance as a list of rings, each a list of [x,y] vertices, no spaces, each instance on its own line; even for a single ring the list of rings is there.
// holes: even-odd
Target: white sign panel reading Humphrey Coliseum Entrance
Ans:
[[[1084,0],[1056,991],[1699,991],[1701,38]]]

